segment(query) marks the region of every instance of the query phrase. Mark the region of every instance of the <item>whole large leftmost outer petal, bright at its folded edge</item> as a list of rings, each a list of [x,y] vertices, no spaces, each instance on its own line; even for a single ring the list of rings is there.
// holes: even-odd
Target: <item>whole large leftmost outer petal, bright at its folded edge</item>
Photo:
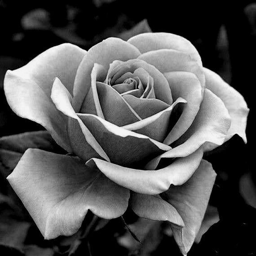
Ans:
[[[4,91],[12,110],[19,116],[43,125],[54,140],[70,151],[66,118],[50,100],[53,79],[65,81],[72,93],[75,73],[86,51],[72,44],[61,44],[35,57],[26,66],[8,71]]]

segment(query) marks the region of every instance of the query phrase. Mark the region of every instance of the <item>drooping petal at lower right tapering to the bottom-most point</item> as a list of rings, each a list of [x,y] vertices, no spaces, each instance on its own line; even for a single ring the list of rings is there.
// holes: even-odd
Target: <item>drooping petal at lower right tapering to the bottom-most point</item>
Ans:
[[[199,231],[216,173],[205,160],[199,165],[192,177],[181,186],[171,186],[162,194],[164,200],[176,208],[185,226],[172,225],[174,238],[183,255],[190,250]]]

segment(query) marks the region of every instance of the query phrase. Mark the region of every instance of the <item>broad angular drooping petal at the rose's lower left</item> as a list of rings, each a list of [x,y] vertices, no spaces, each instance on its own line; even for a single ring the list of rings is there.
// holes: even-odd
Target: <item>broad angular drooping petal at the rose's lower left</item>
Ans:
[[[128,206],[127,189],[77,157],[29,149],[7,179],[46,239],[77,232],[88,210],[112,219]]]

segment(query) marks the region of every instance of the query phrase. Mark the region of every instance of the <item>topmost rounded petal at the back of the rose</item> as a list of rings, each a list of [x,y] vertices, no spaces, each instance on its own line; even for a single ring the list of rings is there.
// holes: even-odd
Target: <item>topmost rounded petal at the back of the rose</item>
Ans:
[[[189,54],[202,66],[201,57],[194,45],[180,35],[171,33],[144,33],[135,35],[128,40],[140,50],[141,53],[159,49],[174,49]]]

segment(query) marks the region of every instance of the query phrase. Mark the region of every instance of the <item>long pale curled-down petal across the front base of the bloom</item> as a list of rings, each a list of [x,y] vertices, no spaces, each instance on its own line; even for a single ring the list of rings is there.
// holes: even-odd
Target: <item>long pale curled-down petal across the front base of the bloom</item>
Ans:
[[[92,158],[86,165],[95,167],[115,183],[140,194],[159,194],[170,185],[186,182],[198,168],[203,150],[197,150],[187,157],[176,159],[169,166],[159,170],[138,170],[126,168],[101,159]]]

